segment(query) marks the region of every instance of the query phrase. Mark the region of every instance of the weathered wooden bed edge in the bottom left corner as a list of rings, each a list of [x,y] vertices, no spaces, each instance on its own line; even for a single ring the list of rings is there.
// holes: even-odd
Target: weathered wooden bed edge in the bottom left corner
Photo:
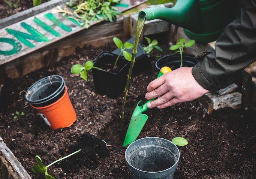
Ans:
[[[13,155],[12,151],[4,144],[0,136],[0,154],[1,156],[1,169],[3,179],[32,179],[24,167],[19,163],[18,159]],[[3,172],[3,171],[1,171]]]

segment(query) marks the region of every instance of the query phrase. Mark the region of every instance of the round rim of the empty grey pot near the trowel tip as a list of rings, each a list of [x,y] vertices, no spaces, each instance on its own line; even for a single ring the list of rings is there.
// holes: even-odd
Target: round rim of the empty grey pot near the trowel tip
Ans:
[[[171,141],[169,141],[168,139],[161,138],[161,137],[144,137],[144,138],[141,138],[141,139],[138,139],[138,140],[132,142],[132,144],[135,143],[135,142],[137,142],[137,141],[140,141],[140,140],[143,140],[143,139],[148,139],[148,138],[157,138],[157,139],[162,139],[162,140],[171,142]],[[125,157],[125,160],[126,160],[127,164],[128,164],[129,166],[131,166],[133,169],[135,169],[135,170],[137,170],[137,171],[139,171],[139,172],[144,172],[144,173],[149,173],[149,174],[166,172],[166,171],[170,170],[173,166],[176,166],[176,165],[178,164],[179,160],[180,160],[180,150],[179,150],[179,148],[178,148],[174,143],[171,142],[171,144],[173,144],[173,145],[175,146],[175,148],[178,150],[178,159],[177,159],[177,161],[176,161],[171,167],[169,167],[168,169],[165,169],[165,170],[157,171],[157,172],[148,172],[148,171],[145,171],[145,170],[140,170],[140,169],[137,169],[136,167],[132,166],[132,164],[130,164],[130,163],[128,162],[128,160],[127,160],[127,152],[128,152],[127,149],[128,149],[132,144],[130,144],[130,145],[126,148],[125,153],[124,153],[124,157]]]

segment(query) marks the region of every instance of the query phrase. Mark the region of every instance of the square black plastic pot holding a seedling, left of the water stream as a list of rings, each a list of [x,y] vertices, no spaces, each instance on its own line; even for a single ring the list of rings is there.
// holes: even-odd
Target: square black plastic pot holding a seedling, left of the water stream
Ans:
[[[109,63],[114,66],[117,56],[117,54],[103,51],[93,60],[94,66],[102,68],[105,64]],[[117,73],[92,69],[94,86],[98,94],[107,95],[110,98],[117,98],[124,91],[130,63],[123,57],[120,57],[117,66],[119,67]]]

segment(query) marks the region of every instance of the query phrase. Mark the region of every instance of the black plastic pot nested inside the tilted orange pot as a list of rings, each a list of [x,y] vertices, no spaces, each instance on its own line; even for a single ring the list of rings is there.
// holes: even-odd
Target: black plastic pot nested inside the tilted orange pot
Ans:
[[[47,76],[28,88],[25,98],[34,107],[48,106],[65,92],[65,81],[59,75]]]

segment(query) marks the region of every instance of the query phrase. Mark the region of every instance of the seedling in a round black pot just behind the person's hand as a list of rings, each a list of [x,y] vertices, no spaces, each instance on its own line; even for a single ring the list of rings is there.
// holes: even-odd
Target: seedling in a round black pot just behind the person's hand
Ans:
[[[163,56],[157,60],[156,68],[160,70],[163,66],[169,66],[171,69],[183,66],[195,66],[198,63],[195,56],[192,54],[183,53],[184,48],[192,47],[194,44],[195,40],[189,40],[185,43],[185,39],[181,37],[177,44],[170,47],[170,50],[175,50],[175,52],[173,54]]]

